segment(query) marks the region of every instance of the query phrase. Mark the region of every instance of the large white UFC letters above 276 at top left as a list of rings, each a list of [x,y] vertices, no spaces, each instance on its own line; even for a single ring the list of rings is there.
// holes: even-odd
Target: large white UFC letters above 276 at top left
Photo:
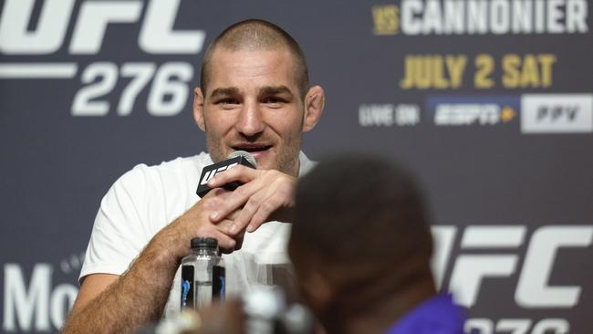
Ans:
[[[203,30],[173,31],[181,0],[146,2],[138,46],[149,54],[196,54],[202,50]],[[68,25],[75,24],[68,46],[71,55],[95,55],[110,24],[136,23],[145,2],[84,1],[76,16],[75,0],[45,0],[36,28],[27,30],[35,0],[6,0],[0,17],[0,52],[6,55],[47,55],[64,45]]]

